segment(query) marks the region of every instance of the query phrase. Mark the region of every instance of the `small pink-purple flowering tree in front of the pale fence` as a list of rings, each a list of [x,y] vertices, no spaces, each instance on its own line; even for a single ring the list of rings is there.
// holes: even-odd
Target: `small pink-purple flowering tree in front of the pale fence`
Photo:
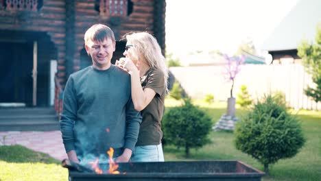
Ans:
[[[230,88],[230,97],[233,97],[233,87],[235,82],[235,77],[240,71],[240,65],[245,61],[245,56],[240,56],[239,58],[229,57],[228,55],[224,55],[224,58],[228,61],[226,66],[226,72],[224,73],[226,79],[228,81],[232,81],[232,86]]]

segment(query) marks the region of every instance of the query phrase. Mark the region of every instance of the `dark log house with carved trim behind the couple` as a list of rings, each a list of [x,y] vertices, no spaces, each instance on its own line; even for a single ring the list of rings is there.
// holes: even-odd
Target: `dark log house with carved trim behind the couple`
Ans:
[[[165,0],[0,0],[0,103],[52,106],[69,75],[91,65],[84,33],[95,23],[115,32],[112,62],[122,56],[126,43],[119,39],[128,32],[150,32],[164,52],[165,5]]]

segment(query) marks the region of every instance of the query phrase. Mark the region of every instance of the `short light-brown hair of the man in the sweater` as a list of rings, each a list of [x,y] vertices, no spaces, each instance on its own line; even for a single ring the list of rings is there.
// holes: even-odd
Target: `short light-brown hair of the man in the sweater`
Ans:
[[[110,27],[103,24],[92,25],[84,34],[85,45],[87,45],[88,40],[103,42],[108,38],[112,40],[112,43],[116,42],[114,32],[112,32]]]

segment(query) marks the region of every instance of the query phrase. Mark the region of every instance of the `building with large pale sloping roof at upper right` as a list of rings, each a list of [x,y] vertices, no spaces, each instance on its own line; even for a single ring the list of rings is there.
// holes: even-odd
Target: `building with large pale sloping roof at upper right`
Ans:
[[[261,49],[272,55],[273,64],[300,64],[297,47],[303,39],[315,41],[318,23],[321,23],[321,1],[300,0],[268,36]]]

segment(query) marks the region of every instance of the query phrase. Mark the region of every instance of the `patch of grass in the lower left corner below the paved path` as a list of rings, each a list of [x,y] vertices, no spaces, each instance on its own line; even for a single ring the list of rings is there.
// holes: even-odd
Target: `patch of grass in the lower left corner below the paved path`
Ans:
[[[0,146],[0,180],[68,180],[68,171],[48,154],[21,145]]]

